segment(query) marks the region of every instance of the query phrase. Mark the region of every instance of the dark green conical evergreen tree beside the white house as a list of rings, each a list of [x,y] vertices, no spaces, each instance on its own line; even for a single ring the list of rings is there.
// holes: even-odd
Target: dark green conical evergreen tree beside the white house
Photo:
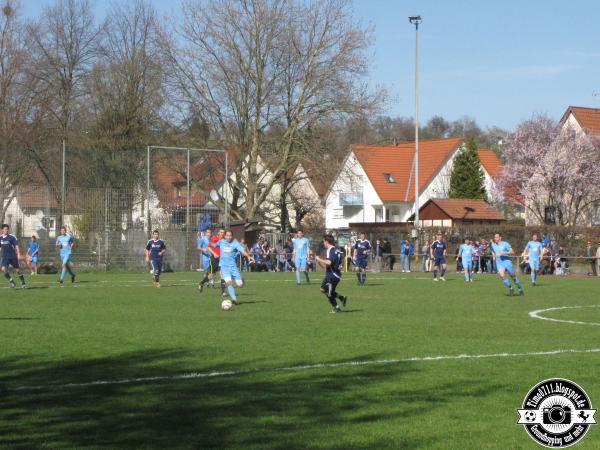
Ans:
[[[486,199],[484,175],[474,139],[467,140],[454,159],[449,197]]]

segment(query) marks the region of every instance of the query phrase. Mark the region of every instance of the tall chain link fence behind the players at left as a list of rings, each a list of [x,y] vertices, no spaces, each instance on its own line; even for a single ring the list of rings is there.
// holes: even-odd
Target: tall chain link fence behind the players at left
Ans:
[[[0,212],[23,255],[31,236],[38,239],[42,272],[58,266],[61,225],[75,237],[80,269],[144,268],[147,240],[158,229],[167,270],[189,270],[198,266],[197,230],[229,223],[222,151],[153,147],[132,152],[122,166],[66,146],[41,155],[48,164],[29,161],[18,184],[0,189]]]

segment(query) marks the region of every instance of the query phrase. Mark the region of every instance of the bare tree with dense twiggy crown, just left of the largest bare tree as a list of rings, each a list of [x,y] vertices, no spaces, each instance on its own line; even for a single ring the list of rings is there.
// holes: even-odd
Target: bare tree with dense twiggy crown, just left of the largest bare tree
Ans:
[[[144,0],[114,4],[103,55],[88,78],[91,99],[88,145],[95,185],[137,187],[141,153],[160,127],[163,105],[158,18]]]

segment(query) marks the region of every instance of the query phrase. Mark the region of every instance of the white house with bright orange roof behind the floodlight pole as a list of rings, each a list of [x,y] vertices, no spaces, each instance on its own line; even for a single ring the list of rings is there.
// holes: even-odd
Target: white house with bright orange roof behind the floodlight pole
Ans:
[[[444,198],[460,137],[419,142],[419,204]],[[353,145],[325,197],[325,226],[406,222],[414,205],[415,143]]]

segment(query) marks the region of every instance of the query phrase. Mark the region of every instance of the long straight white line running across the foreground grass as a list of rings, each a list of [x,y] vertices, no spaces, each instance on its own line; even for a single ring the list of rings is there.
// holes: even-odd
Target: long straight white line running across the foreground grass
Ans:
[[[298,366],[287,366],[287,367],[265,367],[265,368],[254,368],[244,370],[225,370],[225,371],[213,371],[213,372],[189,372],[181,373],[176,375],[157,375],[153,377],[139,377],[139,378],[124,378],[121,380],[95,380],[83,383],[66,383],[66,384],[45,384],[45,385],[30,385],[30,386],[16,386],[1,388],[0,392],[18,392],[18,391],[53,391],[61,389],[74,389],[74,388],[85,388],[94,386],[115,386],[123,384],[138,384],[138,383],[150,383],[155,381],[174,381],[174,380],[191,380],[201,378],[214,378],[214,377],[225,377],[225,376],[244,376],[252,375],[256,373],[278,373],[278,372],[297,372],[302,370],[314,370],[314,369],[331,369],[336,367],[360,367],[360,366],[382,366],[392,365],[400,363],[410,362],[431,362],[431,361],[452,361],[452,360],[465,360],[465,359],[493,359],[493,358],[518,358],[523,356],[552,356],[561,355],[565,353],[600,353],[600,348],[592,349],[559,349],[549,350],[540,352],[523,352],[523,353],[490,353],[480,355],[439,355],[439,356],[413,356],[411,358],[402,359],[379,359],[373,361],[343,361],[337,363],[317,363],[317,364],[305,364]]]

